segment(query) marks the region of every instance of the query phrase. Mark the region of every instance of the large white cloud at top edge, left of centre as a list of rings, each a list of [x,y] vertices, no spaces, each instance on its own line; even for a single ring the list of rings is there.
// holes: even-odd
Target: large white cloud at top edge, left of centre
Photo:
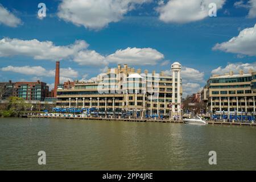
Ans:
[[[118,22],[127,12],[151,0],[63,0],[57,15],[85,28],[101,29]]]

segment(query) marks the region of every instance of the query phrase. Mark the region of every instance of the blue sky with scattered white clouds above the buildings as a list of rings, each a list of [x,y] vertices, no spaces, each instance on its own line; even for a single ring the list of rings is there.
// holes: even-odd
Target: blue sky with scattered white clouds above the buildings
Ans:
[[[57,60],[61,82],[178,61],[187,96],[212,74],[256,71],[255,56],[256,0],[0,0],[0,81],[52,88]]]

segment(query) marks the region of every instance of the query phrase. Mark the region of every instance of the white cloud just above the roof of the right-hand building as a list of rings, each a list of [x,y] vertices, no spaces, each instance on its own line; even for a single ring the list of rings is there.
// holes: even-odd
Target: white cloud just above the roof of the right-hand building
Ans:
[[[248,73],[249,69],[256,71],[256,62],[254,63],[229,63],[226,67],[218,67],[213,69],[212,74],[224,75],[225,73],[229,73],[233,71],[234,74],[238,74],[240,70],[243,72]]]

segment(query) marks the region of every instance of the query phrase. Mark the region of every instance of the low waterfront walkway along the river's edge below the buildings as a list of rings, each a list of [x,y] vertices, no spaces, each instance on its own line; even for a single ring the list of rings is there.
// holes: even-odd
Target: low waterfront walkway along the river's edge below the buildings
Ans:
[[[127,122],[162,122],[162,123],[184,123],[181,120],[170,119],[139,119],[139,118],[105,118],[105,117],[68,117],[68,116],[53,116],[53,115],[27,115],[28,118],[56,118],[56,119],[82,119],[82,120],[98,120],[98,121],[127,121]],[[209,125],[233,125],[233,126],[256,126],[256,123],[247,122],[221,122],[207,121]]]

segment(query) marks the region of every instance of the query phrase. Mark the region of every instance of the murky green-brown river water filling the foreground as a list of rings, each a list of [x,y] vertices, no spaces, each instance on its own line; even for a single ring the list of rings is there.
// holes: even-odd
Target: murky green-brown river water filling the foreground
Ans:
[[[255,170],[256,127],[0,118],[0,169]]]

